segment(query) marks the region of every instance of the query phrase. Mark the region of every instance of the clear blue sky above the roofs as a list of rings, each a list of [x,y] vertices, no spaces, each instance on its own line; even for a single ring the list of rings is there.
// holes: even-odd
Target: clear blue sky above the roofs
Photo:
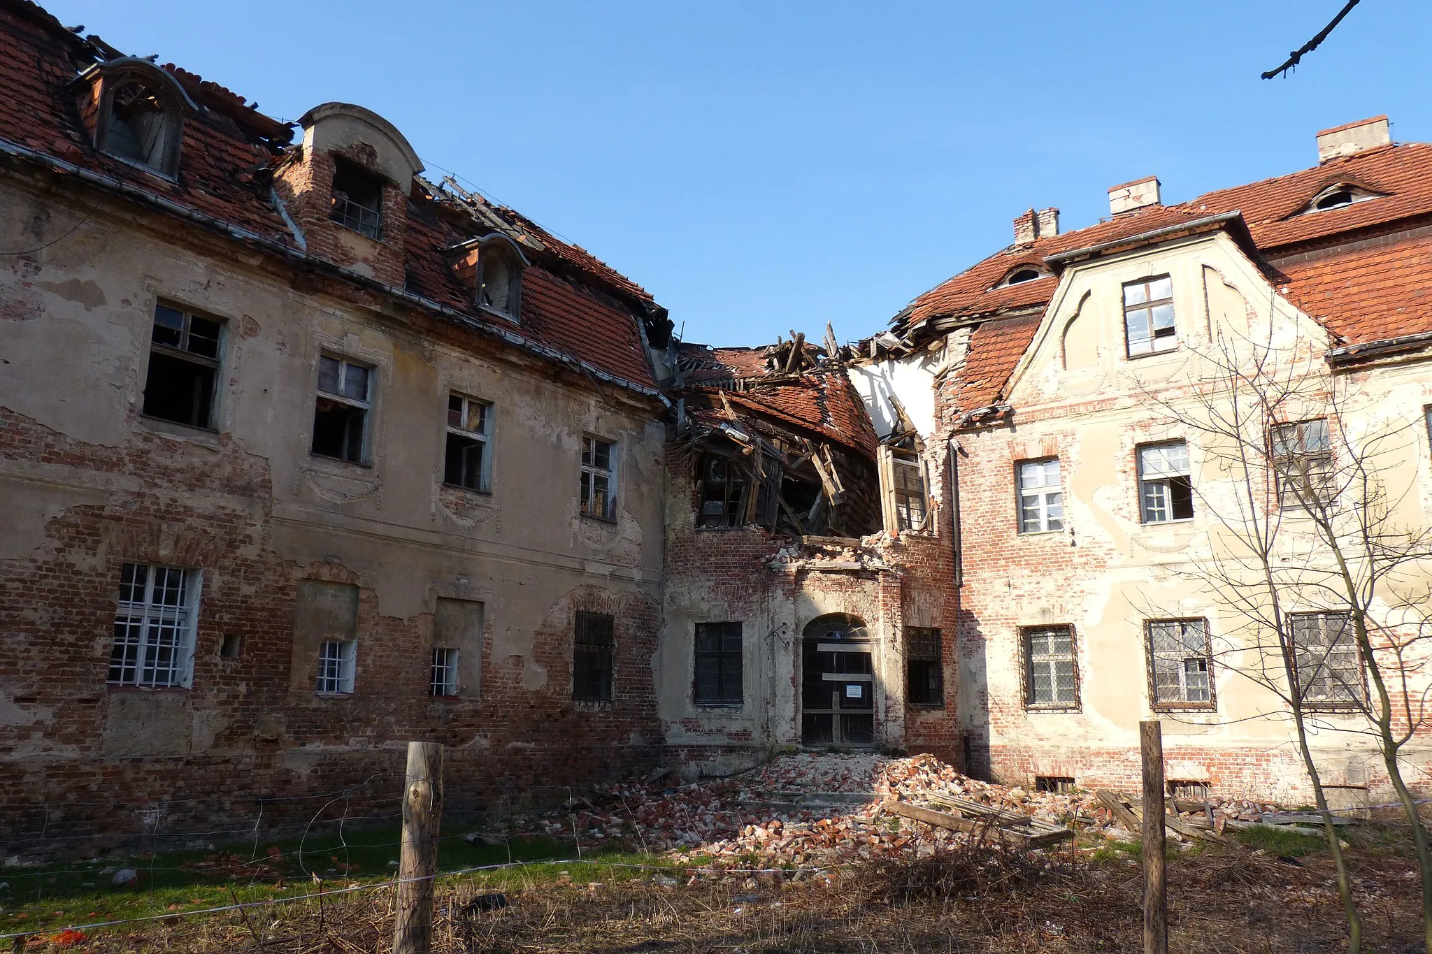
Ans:
[[[1166,202],[1312,166],[1388,113],[1432,139],[1432,4],[1366,0],[328,3],[49,0],[125,51],[296,119],[377,110],[453,170],[646,286],[687,340],[874,333],[1144,174]]]

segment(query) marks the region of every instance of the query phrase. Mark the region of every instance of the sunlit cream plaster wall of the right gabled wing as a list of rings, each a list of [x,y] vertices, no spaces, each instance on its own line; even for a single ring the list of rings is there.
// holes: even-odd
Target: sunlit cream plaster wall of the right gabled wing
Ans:
[[[1130,360],[1120,287],[1163,273],[1173,276],[1181,348]],[[1014,425],[958,435],[968,453],[961,463],[967,585],[959,719],[977,769],[1024,784],[1057,775],[1084,787],[1137,788],[1138,721],[1160,718],[1170,778],[1207,781],[1230,795],[1310,798],[1286,707],[1229,665],[1239,655],[1219,652],[1237,645],[1242,618],[1190,578],[1201,556],[1226,545],[1219,515],[1239,512],[1239,486],[1216,466],[1206,439],[1170,422],[1156,403],[1190,406],[1190,382],[1211,373],[1199,350],[1220,335],[1297,349],[1305,362],[1320,360],[1327,346],[1326,332],[1277,297],[1224,236],[1071,267],[1015,370]],[[1413,488],[1399,501],[1399,516],[1426,525],[1432,473],[1422,413],[1432,402],[1432,373],[1425,363],[1378,369],[1359,373],[1352,390],[1355,421],[1392,421],[1412,435],[1378,471],[1389,486]],[[1190,448],[1194,518],[1141,523],[1136,446],[1169,439],[1186,439]],[[1060,459],[1065,528],[1018,533],[1015,465],[1045,456]],[[1287,554],[1302,549],[1300,532],[1289,519]],[[1199,616],[1214,638],[1217,708],[1154,712],[1144,621]],[[1075,711],[1024,705],[1020,632],[1047,624],[1074,631]],[[1385,775],[1370,741],[1332,731],[1356,728],[1359,719],[1319,721],[1313,745],[1325,781],[1366,785],[1363,797],[1383,798]],[[1408,752],[1409,778],[1425,787],[1429,765],[1432,745],[1418,742]]]

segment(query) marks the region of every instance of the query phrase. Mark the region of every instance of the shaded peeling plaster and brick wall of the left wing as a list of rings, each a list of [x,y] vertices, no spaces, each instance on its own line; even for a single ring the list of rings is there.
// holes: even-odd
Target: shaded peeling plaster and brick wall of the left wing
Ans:
[[[0,259],[10,850],[92,851],[80,838],[96,832],[117,842],[147,830],[139,802],[173,802],[163,837],[252,828],[259,795],[357,785],[354,805],[388,798],[407,739],[451,747],[454,812],[556,798],[660,759],[656,402],[86,202],[0,182],[0,247],[53,242]],[[160,297],[223,322],[212,432],[139,413]],[[375,368],[371,465],[309,453],[325,350]],[[491,493],[441,483],[450,390],[494,403]],[[584,433],[620,448],[611,523],[579,516]],[[106,685],[125,562],[202,568],[190,689]],[[316,636],[302,624],[295,635],[304,581],[357,588],[349,698],[314,692]],[[440,596],[484,604],[480,684],[457,698],[428,695]],[[616,619],[611,704],[570,698],[584,608]],[[238,658],[219,655],[226,635]],[[312,805],[286,804],[263,824],[309,818]],[[70,841],[26,841],[42,828]]]

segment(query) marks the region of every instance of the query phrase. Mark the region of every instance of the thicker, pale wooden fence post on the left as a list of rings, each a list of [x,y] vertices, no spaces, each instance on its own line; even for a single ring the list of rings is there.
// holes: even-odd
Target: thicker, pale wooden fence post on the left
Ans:
[[[441,825],[442,747],[408,742],[392,954],[430,954],[432,950],[432,882],[438,872]]]

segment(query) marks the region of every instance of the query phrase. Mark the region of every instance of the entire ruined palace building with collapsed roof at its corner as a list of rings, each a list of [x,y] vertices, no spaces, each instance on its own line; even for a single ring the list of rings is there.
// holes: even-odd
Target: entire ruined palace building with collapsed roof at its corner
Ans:
[[[408,739],[457,810],[792,747],[1130,788],[1161,718],[1177,785],[1300,800],[1289,692],[1385,800],[1345,614],[1289,596],[1297,685],[1250,678],[1207,566],[1252,496],[1189,409],[1229,342],[1320,382],[1270,425],[1283,564],[1369,422],[1429,522],[1432,144],[1386,117],[1030,210],[866,340],[723,348],[362,106],[278,122],[27,0],[0,93],[6,854],[282,821]]]

